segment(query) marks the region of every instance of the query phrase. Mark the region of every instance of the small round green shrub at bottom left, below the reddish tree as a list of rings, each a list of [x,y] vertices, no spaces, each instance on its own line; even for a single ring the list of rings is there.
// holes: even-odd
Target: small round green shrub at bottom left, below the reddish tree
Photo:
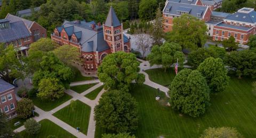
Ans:
[[[33,118],[27,119],[26,122],[24,123],[24,126],[25,126],[25,128],[26,128],[25,131],[26,131],[29,135],[38,134],[39,131],[40,131],[40,128],[41,128],[41,124],[39,124],[38,122],[36,122],[36,120],[33,119]]]

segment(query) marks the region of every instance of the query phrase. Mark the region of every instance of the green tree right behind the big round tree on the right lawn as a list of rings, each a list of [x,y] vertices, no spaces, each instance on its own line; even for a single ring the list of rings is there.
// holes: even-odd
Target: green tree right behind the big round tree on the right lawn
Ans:
[[[197,70],[205,77],[211,92],[221,92],[228,85],[228,71],[220,58],[205,59]]]

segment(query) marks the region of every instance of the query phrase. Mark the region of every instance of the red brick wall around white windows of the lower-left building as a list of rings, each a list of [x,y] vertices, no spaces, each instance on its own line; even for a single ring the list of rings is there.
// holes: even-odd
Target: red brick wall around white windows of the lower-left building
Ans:
[[[10,100],[8,100],[8,97],[7,97],[7,95],[8,94],[12,94],[12,99],[10,99]],[[6,101],[5,102],[2,102],[2,99],[1,99],[1,97],[3,97],[3,96],[5,96],[5,99],[6,99]],[[13,113],[15,113],[15,109],[17,108],[17,100],[16,100],[16,97],[15,97],[15,93],[14,93],[14,88],[13,89],[10,89],[10,90],[7,90],[7,91],[5,91],[5,92],[2,92],[2,93],[0,93],[0,108],[2,109],[2,112],[3,113],[5,113],[5,111],[4,111],[4,107],[5,106],[8,106],[8,108],[9,108],[9,111],[7,111],[5,114],[7,115],[7,116],[9,116],[9,115],[11,115],[11,114],[13,114]],[[13,103],[14,104],[14,109],[12,109],[11,110],[11,107],[10,107],[10,104],[11,103]]]

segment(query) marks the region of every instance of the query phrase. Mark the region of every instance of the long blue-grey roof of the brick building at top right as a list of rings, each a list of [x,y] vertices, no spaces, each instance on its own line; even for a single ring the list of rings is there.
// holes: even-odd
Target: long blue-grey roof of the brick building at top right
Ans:
[[[169,9],[169,10],[167,10],[167,9]],[[181,11],[181,12],[187,12],[188,14],[193,15],[196,18],[202,19],[206,10],[207,10],[206,6],[199,6],[199,5],[185,4],[185,3],[176,3],[176,2],[167,2],[167,5],[165,6],[163,13],[180,16],[181,14],[177,13],[177,12]],[[201,16],[197,16],[197,14],[201,14]]]

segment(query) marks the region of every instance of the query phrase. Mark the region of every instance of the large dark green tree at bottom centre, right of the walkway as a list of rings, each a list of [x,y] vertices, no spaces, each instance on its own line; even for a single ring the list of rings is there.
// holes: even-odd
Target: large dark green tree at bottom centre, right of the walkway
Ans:
[[[132,132],[138,127],[137,102],[124,91],[108,91],[102,94],[94,109],[97,126],[113,132]]]

